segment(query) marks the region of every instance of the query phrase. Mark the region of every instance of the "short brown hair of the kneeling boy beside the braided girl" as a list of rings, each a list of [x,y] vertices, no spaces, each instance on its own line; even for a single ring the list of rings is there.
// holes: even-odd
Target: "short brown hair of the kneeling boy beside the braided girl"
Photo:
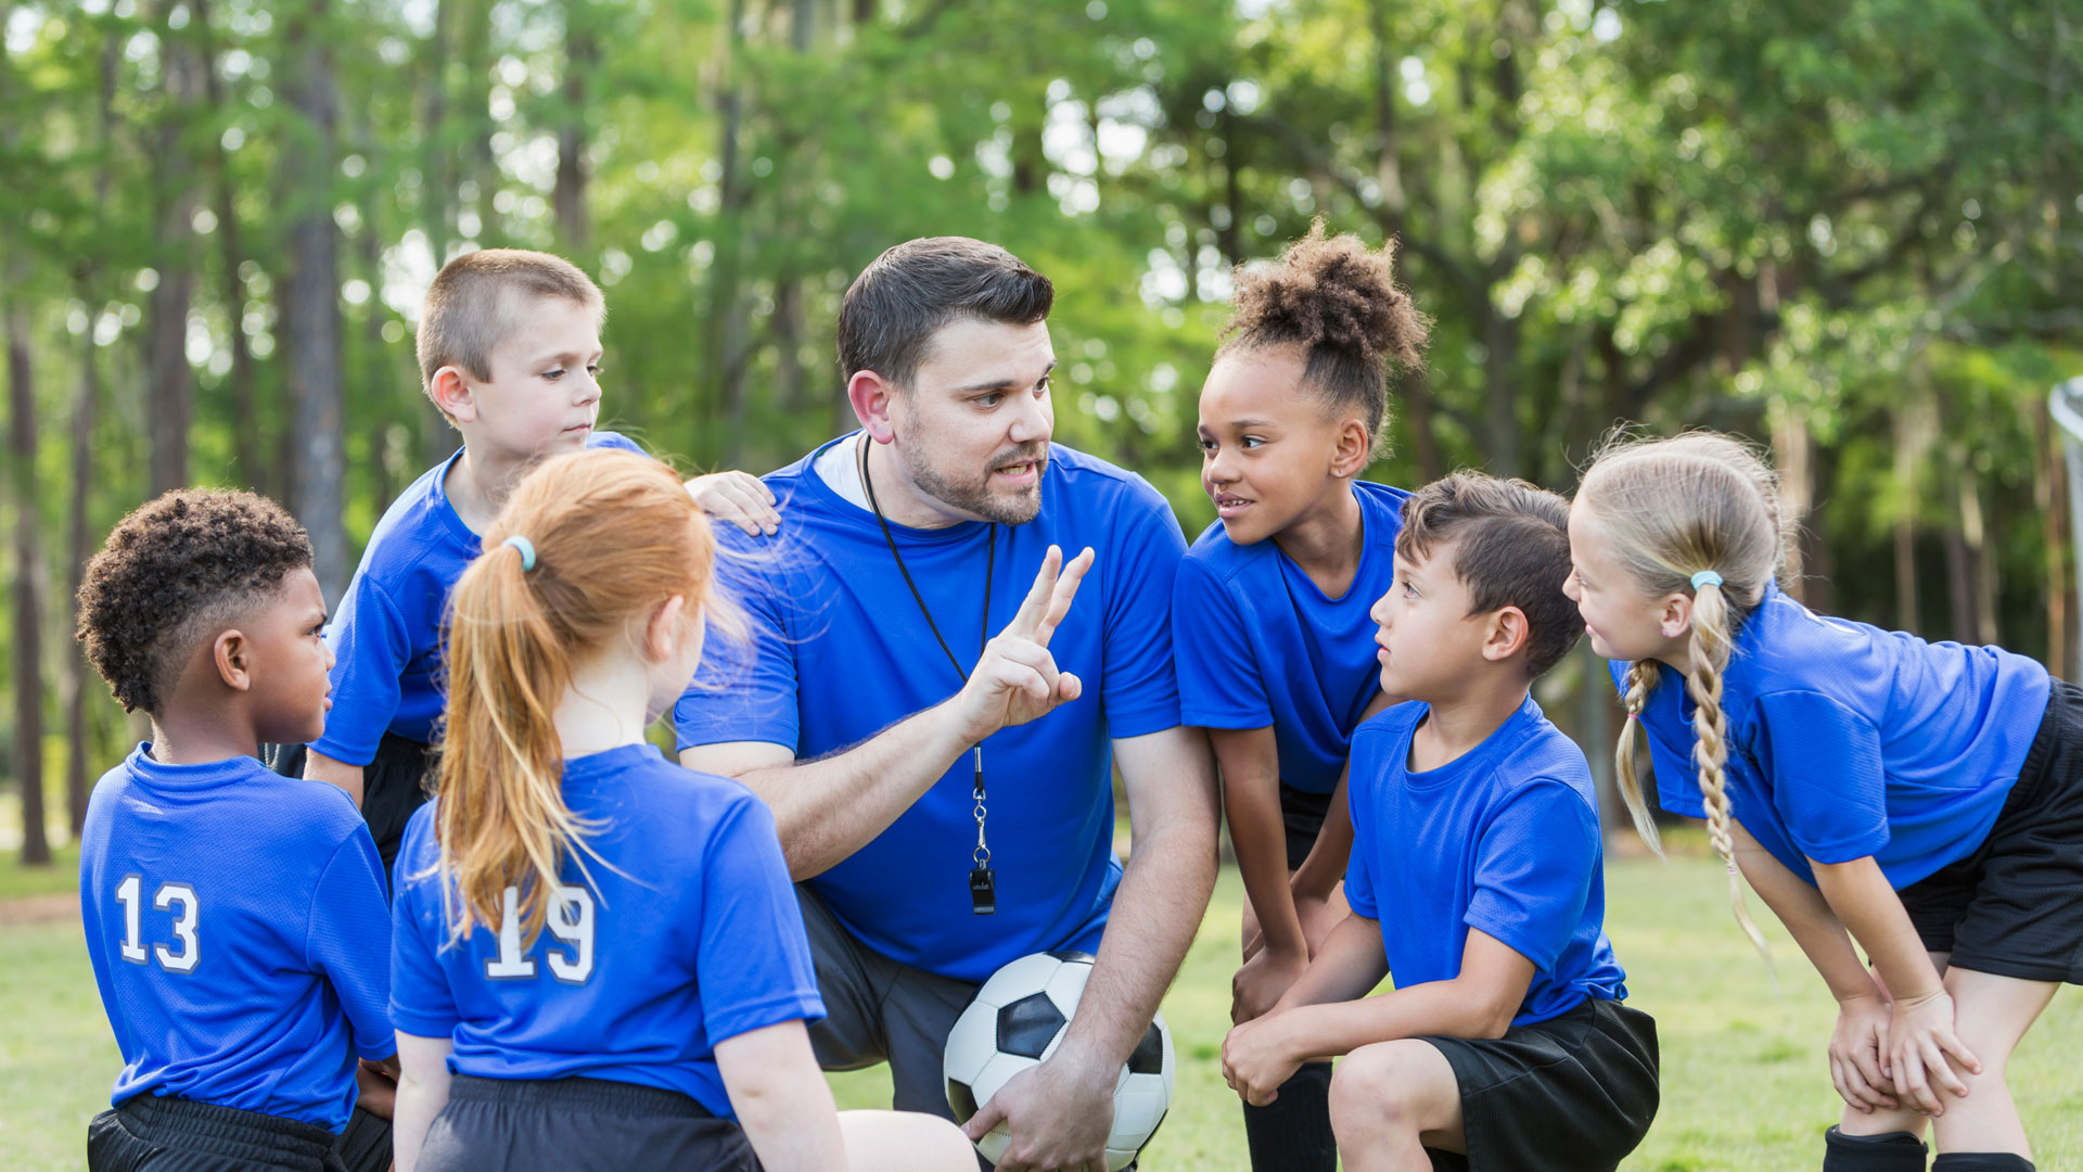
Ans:
[[[1568,500],[1525,480],[1456,471],[1404,500],[1396,553],[1425,561],[1448,548],[1469,586],[1471,615],[1519,607],[1527,615],[1527,676],[1568,655],[1583,634],[1568,578]]]

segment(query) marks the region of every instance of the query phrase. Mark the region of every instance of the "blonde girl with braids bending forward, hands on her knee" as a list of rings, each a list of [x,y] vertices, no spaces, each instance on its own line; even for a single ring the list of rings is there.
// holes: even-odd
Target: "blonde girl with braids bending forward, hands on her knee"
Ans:
[[[2031,1170],[2004,1082],[2083,982],[2083,692],[1998,646],[1823,617],[1779,590],[1777,484],[1712,432],[1610,442],[1566,590],[1627,703],[1621,786],[1708,820],[1837,997],[1827,1172]],[[1860,951],[1871,959],[1862,963]]]

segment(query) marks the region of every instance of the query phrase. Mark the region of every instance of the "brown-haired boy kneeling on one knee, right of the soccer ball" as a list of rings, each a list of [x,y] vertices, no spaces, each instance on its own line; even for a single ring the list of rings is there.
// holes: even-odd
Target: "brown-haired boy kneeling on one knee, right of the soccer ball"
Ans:
[[[1381,688],[1414,703],[1352,736],[1352,915],[1223,1043],[1248,1103],[1344,1055],[1354,1172],[1606,1170],[1656,1116],[1656,1024],[1621,1005],[1602,928],[1591,770],[1529,692],[1583,630],[1566,526],[1560,496],[1477,473],[1404,505],[1373,617]]]

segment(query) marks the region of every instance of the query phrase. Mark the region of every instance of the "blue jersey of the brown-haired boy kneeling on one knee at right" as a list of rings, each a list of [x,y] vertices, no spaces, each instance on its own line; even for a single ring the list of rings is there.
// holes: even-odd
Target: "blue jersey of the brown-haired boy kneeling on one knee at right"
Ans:
[[[1431,705],[1402,703],[1352,734],[1346,899],[1381,922],[1398,988],[1460,976],[1469,928],[1533,961],[1514,1026],[1627,999],[1606,941],[1606,872],[1591,767],[1527,697],[1481,744],[1412,774]],[[1383,913],[1387,909],[1387,913]]]

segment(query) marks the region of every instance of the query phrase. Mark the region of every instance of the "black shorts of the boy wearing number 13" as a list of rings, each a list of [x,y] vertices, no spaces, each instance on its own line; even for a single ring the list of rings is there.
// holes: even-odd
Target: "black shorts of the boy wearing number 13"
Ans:
[[[356,1107],[346,1134],[319,1124],[135,1095],[87,1124],[92,1172],[385,1172],[390,1122]]]

